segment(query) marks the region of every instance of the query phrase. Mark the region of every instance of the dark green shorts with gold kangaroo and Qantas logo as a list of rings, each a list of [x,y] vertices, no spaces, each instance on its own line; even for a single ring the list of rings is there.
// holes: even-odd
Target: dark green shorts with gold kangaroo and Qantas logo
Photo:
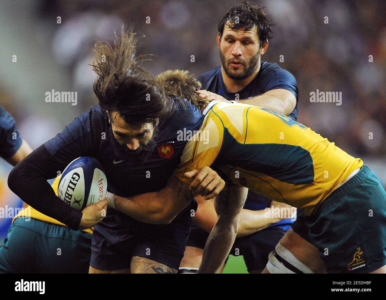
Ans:
[[[292,229],[319,249],[328,273],[368,273],[386,264],[386,192],[363,166]]]

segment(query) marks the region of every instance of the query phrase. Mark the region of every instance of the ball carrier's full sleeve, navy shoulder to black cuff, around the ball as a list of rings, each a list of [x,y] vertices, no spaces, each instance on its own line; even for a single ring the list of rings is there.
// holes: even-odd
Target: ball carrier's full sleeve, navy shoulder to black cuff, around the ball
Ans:
[[[60,200],[47,182],[80,156],[93,156],[101,139],[101,112],[90,110],[53,139],[38,147],[12,169],[9,188],[41,213],[78,229],[82,213]],[[99,139],[97,138],[99,137]]]

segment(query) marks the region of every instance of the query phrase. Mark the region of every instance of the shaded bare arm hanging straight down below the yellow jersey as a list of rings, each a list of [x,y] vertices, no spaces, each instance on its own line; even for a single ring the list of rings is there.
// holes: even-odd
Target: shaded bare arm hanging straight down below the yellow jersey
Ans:
[[[246,198],[245,189],[236,188],[223,191],[215,199],[217,221],[205,244],[198,273],[217,273],[225,262],[236,238],[237,224]]]

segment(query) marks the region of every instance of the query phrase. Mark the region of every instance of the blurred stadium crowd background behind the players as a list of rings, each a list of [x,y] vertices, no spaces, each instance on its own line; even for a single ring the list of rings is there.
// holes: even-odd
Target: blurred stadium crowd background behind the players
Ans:
[[[241,1],[2,1],[0,105],[35,149],[96,103],[88,66],[97,39],[112,41],[122,24],[146,37],[139,53],[149,71],[188,69],[195,75],[220,65],[215,37],[223,14]],[[386,185],[385,2],[257,1],[273,19],[274,38],[262,61],[278,63],[298,82],[298,121],[354,156]],[[325,24],[325,17],[328,24]],[[61,17],[61,24],[57,23]],[[150,24],[146,18],[150,17]],[[139,36],[140,36],[139,34]],[[16,62],[13,56],[16,55]],[[194,62],[191,56],[194,55]],[[284,61],[279,61],[283,55]],[[373,62],[369,62],[372,55]],[[46,103],[45,93],[77,92],[78,104]],[[342,92],[342,105],[311,103],[310,92]],[[369,139],[372,132],[373,139]],[[11,167],[0,161],[0,208],[21,207],[7,187]],[[0,238],[12,219],[0,219]],[[225,271],[245,272],[242,258]]]

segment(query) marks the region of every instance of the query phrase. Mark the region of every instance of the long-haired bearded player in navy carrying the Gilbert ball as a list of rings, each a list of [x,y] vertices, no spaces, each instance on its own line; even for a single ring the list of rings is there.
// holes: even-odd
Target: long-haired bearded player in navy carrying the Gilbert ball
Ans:
[[[134,36],[122,29],[113,46],[95,45],[93,68],[98,76],[94,92],[99,104],[29,154],[8,177],[8,186],[22,200],[71,229],[96,224],[90,273],[177,273],[190,232],[191,211],[196,209],[193,197],[199,192],[217,194],[225,184],[208,168],[187,174],[196,176],[191,186],[171,176],[186,144],[186,139],[177,138],[178,131],[199,129],[203,115],[187,100],[168,97],[139,66]],[[72,209],[46,180],[80,156],[92,156],[102,164],[108,192],[129,197],[166,187],[175,205],[165,208],[150,203],[151,212],[137,214],[135,219],[119,211],[125,203],[117,210],[108,208],[106,217],[94,205],[81,212]],[[102,202],[107,205],[108,200]],[[174,215],[176,205],[179,212]],[[161,214],[157,224],[145,223]]]

